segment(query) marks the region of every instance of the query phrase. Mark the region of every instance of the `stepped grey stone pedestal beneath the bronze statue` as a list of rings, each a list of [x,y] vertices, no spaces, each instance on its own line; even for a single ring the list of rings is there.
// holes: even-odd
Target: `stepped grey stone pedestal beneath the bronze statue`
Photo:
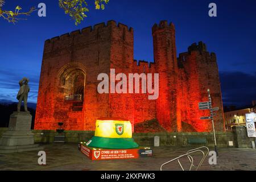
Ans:
[[[29,112],[14,112],[10,115],[9,131],[2,134],[0,153],[42,150],[39,144],[34,144],[34,134],[31,132],[32,115]]]

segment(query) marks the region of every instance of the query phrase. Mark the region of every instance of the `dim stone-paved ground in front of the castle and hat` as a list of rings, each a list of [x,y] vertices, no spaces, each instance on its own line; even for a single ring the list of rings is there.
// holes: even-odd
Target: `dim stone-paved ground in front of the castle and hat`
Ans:
[[[153,147],[151,158],[91,161],[77,150],[77,144],[46,144],[46,166],[39,166],[38,151],[18,154],[0,154],[0,170],[159,170],[161,164],[184,154],[189,147]],[[213,150],[213,148],[210,148]],[[195,163],[201,156],[195,155]],[[256,170],[256,150],[251,148],[219,148],[216,165],[209,165],[209,157],[200,170]],[[184,168],[188,168],[188,159],[181,160]],[[180,170],[174,162],[164,170]]]

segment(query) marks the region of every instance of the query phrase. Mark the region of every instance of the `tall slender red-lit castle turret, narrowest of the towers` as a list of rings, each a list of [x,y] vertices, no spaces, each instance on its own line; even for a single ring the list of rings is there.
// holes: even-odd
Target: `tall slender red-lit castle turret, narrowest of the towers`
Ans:
[[[159,73],[159,98],[156,101],[156,118],[168,131],[179,131],[177,115],[177,58],[174,24],[161,21],[152,27],[154,61]]]

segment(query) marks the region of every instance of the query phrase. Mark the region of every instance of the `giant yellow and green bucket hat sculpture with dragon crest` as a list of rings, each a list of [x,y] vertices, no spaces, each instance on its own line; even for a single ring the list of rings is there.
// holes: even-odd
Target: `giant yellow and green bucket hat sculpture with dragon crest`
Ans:
[[[88,147],[95,148],[137,148],[132,138],[131,123],[123,118],[99,118],[96,121],[95,134]]]

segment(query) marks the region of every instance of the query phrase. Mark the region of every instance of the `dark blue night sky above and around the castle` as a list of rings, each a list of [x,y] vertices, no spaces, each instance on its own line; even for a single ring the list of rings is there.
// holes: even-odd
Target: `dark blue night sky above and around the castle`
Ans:
[[[30,78],[28,102],[36,102],[44,40],[110,19],[134,28],[134,59],[153,61],[151,27],[160,20],[176,27],[177,53],[202,40],[217,55],[224,105],[250,105],[256,100],[256,1],[110,0],[105,10],[89,2],[88,18],[79,26],[57,0],[6,0],[4,9],[23,10],[46,3],[47,17],[37,12],[15,25],[0,18],[0,100],[15,101],[18,81]],[[217,17],[208,5],[217,4]]]

